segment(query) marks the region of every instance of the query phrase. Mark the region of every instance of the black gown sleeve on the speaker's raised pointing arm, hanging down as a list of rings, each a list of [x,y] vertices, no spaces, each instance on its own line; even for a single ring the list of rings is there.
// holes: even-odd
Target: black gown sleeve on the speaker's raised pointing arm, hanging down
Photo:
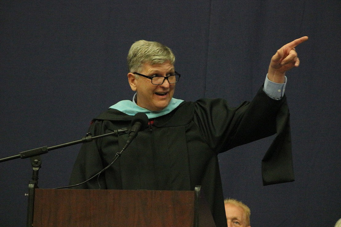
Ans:
[[[264,185],[294,181],[289,116],[286,96],[271,99],[263,87],[237,108],[224,99],[201,99],[195,106],[197,126],[217,154],[277,134],[262,160]]]

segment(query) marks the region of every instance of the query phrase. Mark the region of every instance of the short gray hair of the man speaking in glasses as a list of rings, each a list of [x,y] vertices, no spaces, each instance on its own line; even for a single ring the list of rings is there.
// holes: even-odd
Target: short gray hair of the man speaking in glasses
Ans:
[[[138,72],[143,64],[162,64],[169,61],[172,65],[175,56],[170,48],[158,42],[139,40],[131,45],[127,62],[130,72]]]

